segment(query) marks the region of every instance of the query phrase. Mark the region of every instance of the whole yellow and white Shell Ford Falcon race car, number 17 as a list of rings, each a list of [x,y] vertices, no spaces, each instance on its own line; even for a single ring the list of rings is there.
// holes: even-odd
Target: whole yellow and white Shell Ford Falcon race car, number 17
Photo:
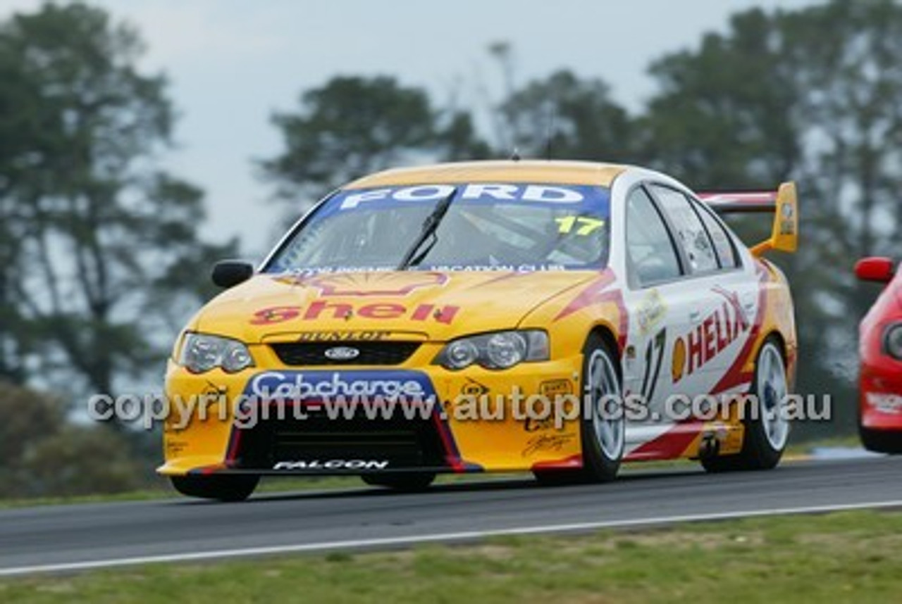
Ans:
[[[734,211],[773,214],[769,239],[746,247],[719,216]],[[166,393],[190,421],[166,420],[159,472],[237,500],[273,474],[410,490],[441,472],[772,468],[796,327],[762,254],[795,251],[797,221],[791,183],[696,196],[600,163],[361,178],[259,267],[216,265],[226,291],[169,361]]]

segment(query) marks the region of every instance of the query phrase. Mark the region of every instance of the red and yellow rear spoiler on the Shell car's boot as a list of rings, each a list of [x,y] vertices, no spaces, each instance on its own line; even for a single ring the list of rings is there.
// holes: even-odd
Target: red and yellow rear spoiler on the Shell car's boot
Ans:
[[[798,248],[798,198],[796,183],[785,182],[776,191],[699,193],[698,198],[718,214],[773,213],[770,238],[752,246],[761,256],[770,250],[796,252]]]

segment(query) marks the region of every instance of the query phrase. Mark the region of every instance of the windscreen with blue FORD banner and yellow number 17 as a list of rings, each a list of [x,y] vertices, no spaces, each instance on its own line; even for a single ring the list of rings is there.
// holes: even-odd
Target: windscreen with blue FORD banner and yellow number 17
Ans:
[[[450,199],[446,212],[437,213]],[[437,218],[424,239],[428,218]],[[607,261],[608,188],[524,183],[338,191],[281,245],[266,272],[580,270]],[[435,226],[433,224],[433,226]],[[419,245],[417,243],[419,242]],[[417,248],[411,252],[411,248]]]

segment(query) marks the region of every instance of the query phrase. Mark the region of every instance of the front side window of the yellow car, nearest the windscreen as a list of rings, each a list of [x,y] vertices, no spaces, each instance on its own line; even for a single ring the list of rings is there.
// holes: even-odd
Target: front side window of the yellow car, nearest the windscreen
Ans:
[[[640,286],[682,275],[667,225],[643,188],[633,189],[627,198],[626,250],[630,271]]]

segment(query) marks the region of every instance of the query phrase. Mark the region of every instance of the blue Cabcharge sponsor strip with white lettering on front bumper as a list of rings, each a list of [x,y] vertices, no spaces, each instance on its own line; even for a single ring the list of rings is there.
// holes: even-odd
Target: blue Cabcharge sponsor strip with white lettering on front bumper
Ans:
[[[418,371],[264,371],[245,394],[260,400],[321,400],[336,397],[426,398],[433,394]]]

